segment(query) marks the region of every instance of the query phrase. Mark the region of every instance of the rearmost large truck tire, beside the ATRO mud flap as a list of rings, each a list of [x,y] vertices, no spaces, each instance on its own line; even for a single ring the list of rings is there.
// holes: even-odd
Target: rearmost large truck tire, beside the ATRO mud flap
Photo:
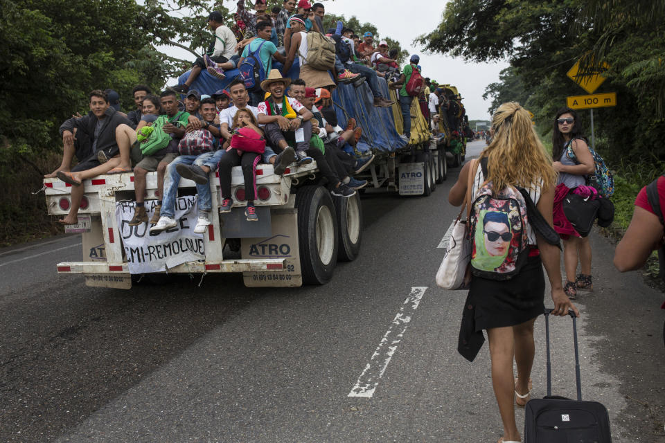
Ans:
[[[326,284],[337,264],[337,216],[330,192],[303,186],[296,193],[300,267],[304,284]]]

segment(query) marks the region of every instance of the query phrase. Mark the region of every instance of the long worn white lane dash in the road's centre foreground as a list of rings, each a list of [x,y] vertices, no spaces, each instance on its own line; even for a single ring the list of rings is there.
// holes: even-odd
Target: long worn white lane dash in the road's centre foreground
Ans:
[[[358,377],[358,381],[355,382],[355,386],[349,392],[348,397],[371,398],[374,395],[374,390],[379,385],[379,381],[383,377],[390,359],[395,354],[400,341],[402,341],[402,337],[404,337],[404,333],[407,331],[407,327],[409,327],[411,316],[418,309],[420,299],[423,298],[426,290],[427,287],[411,288],[411,293],[404,300],[402,307],[400,307],[400,310],[388,328],[388,332],[381,339],[369,363],[367,363],[362,374]]]

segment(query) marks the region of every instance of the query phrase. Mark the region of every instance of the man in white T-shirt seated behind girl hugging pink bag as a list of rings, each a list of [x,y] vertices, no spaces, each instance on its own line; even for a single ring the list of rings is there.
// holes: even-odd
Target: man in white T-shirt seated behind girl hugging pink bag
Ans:
[[[236,79],[229,84],[231,91],[231,99],[233,106],[224,109],[219,114],[220,119],[220,144],[229,143],[231,141],[231,132],[233,130],[233,117],[236,116],[238,110],[249,109],[255,117],[258,117],[258,109],[253,106],[247,105],[247,89],[242,80]],[[204,162],[197,162],[193,165],[179,165],[178,173],[181,177],[193,180],[197,183],[208,183],[208,175],[210,172],[215,172],[218,168],[218,163],[224,155],[224,150],[218,150],[209,154]],[[275,154],[271,147],[266,145],[265,152],[263,153],[263,162],[274,165],[275,174],[284,174],[285,169],[292,163],[295,158],[295,151],[292,147],[287,147],[279,155]]]

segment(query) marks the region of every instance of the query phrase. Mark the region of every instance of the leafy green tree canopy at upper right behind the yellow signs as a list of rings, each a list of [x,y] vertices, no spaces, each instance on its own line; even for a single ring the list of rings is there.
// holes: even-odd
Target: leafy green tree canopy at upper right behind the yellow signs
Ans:
[[[454,0],[441,24],[417,41],[427,51],[465,60],[507,59],[511,67],[485,97],[494,109],[517,100],[539,127],[553,127],[566,96],[585,92],[567,78],[582,59],[589,73],[605,62],[607,81],[596,92],[617,92],[618,106],[597,109],[596,134],[614,165],[626,159],[665,159],[665,1]],[[587,123],[587,111],[580,111]],[[589,128],[590,129],[590,128]]]

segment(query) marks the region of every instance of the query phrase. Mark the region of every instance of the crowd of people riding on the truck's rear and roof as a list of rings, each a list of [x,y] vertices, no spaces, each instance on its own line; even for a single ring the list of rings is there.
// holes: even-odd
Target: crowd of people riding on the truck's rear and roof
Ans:
[[[444,93],[429,78],[423,79],[416,93],[409,89],[412,75],[420,76],[418,55],[412,55],[400,71],[396,53],[391,53],[386,41],[375,47],[372,33],[365,32],[361,42],[355,30],[342,22],[324,31],[324,15],[321,3],[311,5],[308,0],[286,0],[283,8],[270,14],[265,0],[256,0],[254,12],[240,0],[233,24],[226,24],[220,12],[210,13],[207,24],[213,42],[193,62],[182,84],[167,87],[159,97],[152,95],[150,87],[137,85],[133,91],[136,109],[127,114],[120,111],[120,97],[112,89],[92,91],[89,114],[72,116],[61,125],[62,163],[46,176],[73,186],[71,209],[60,222],[77,223],[83,180],[123,172],[134,173],[136,211],[130,225],[150,223],[153,233],[177,223],[173,205],[180,177],[197,183],[197,232],[204,232],[211,223],[208,181],[215,170],[220,175],[221,211],[229,212],[233,206],[230,171],[235,165],[242,167],[245,177],[248,221],[258,219],[254,197],[256,166],[261,161],[273,165],[275,174],[284,174],[294,162],[306,165],[315,160],[330,192],[351,197],[367,184],[353,176],[367,168],[374,156],[359,155],[355,149],[362,128],[354,118],[348,118],[345,127],[337,124],[330,91],[338,83],[361,87],[366,82],[373,105],[389,107],[393,101],[382,93],[378,82],[378,78],[386,78],[389,87],[398,91],[402,139],[407,143],[411,139],[414,98],[426,103],[423,111],[432,135],[441,138],[444,132],[438,126],[438,112],[445,113],[456,97]],[[323,32],[326,41],[321,40]],[[314,42],[312,48],[310,42]],[[327,55],[319,49],[326,42],[330,44]],[[299,78],[292,81],[287,73],[296,60]],[[202,71],[224,79],[232,69],[240,74],[211,96],[190,89]],[[459,121],[452,114],[445,116],[450,134],[447,143],[454,149]],[[249,143],[251,134],[257,134],[258,143],[264,145],[256,152],[238,147]],[[75,156],[78,164],[71,168]],[[157,172],[159,196],[150,219],[145,211],[148,172]]]

